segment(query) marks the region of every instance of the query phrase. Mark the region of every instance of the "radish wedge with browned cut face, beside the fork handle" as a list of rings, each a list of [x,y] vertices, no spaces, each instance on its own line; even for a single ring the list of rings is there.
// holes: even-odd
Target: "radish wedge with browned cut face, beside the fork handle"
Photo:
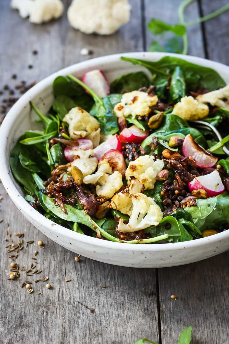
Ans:
[[[195,142],[190,134],[185,136],[182,152],[185,157],[192,157],[196,160],[196,166],[202,169],[214,166],[218,158],[208,153],[203,147]]]

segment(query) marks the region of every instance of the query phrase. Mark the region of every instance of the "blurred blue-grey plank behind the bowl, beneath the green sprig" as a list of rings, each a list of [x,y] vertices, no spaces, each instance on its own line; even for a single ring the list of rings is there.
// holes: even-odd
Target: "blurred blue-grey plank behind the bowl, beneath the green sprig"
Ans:
[[[157,18],[169,24],[178,24],[178,7],[180,0],[145,0],[145,21],[146,24],[151,18]],[[191,3],[185,10],[185,20],[191,21],[199,17],[198,4]],[[204,57],[203,37],[201,25],[189,26],[188,33],[188,55]],[[167,36],[166,36],[167,37]],[[164,37],[160,42],[165,44],[167,38]],[[170,37],[170,35],[169,35]],[[146,30],[146,50],[149,50],[151,41],[158,40],[158,36],[153,36],[149,30]]]

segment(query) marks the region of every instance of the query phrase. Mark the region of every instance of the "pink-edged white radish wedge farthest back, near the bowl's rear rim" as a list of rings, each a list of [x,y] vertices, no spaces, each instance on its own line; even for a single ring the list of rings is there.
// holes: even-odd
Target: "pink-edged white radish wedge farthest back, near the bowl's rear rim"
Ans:
[[[82,82],[90,87],[100,98],[110,94],[110,85],[100,69],[94,69],[94,71],[85,73],[82,77]]]

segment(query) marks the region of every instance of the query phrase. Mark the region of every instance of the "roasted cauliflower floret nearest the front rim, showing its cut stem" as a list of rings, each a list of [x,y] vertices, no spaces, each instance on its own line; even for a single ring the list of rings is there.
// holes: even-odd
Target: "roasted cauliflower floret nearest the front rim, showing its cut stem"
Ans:
[[[150,226],[157,226],[162,220],[163,213],[153,198],[147,197],[142,193],[130,195],[133,203],[133,210],[129,218],[128,224],[123,223],[120,217],[118,222],[118,230],[123,233],[136,232]]]

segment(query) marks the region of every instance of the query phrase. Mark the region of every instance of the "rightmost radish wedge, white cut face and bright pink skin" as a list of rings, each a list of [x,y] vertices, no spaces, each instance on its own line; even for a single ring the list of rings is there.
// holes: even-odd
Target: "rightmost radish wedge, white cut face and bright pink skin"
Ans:
[[[188,183],[188,187],[191,192],[198,189],[206,190],[207,197],[217,196],[225,190],[219,172],[216,170],[210,174],[195,177],[193,181]]]

